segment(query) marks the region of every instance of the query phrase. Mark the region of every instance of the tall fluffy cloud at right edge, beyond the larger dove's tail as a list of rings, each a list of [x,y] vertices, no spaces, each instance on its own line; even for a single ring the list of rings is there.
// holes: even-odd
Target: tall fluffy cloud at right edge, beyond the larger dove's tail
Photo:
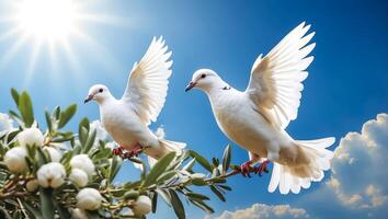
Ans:
[[[388,204],[388,115],[364,124],[361,134],[349,132],[335,148],[328,182],[340,203],[369,211]]]

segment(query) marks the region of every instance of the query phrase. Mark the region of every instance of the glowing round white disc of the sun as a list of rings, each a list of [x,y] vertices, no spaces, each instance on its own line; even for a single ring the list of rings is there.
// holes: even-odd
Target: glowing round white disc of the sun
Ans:
[[[39,39],[66,38],[76,28],[76,5],[71,0],[24,0],[16,15],[20,27]]]

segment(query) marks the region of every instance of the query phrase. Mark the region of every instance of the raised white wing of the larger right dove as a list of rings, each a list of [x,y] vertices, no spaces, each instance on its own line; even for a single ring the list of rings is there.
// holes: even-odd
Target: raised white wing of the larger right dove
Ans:
[[[255,110],[276,127],[286,128],[298,114],[301,82],[307,78],[307,67],[313,57],[307,57],[316,46],[306,46],[313,32],[306,33],[310,25],[305,22],[287,34],[264,58],[254,61],[251,79],[246,93],[254,103]]]

